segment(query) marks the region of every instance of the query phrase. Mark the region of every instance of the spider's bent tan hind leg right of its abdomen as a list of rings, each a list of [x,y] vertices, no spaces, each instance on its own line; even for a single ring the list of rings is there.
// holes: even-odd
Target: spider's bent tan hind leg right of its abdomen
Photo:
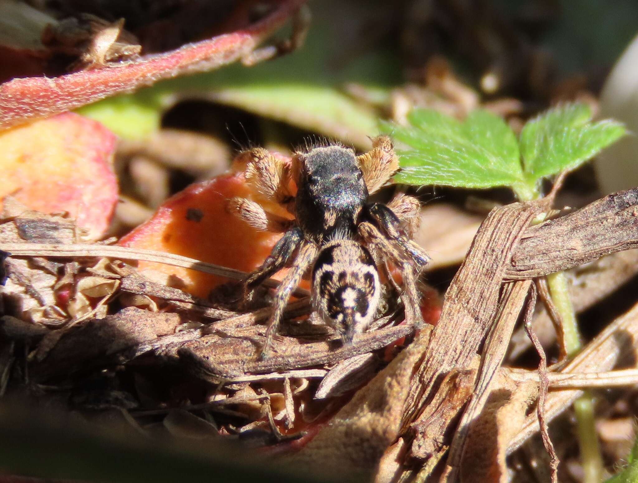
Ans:
[[[401,300],[403,300],[405,307],[406,321],[417,329],[422,328],[424,321],[421,315],[420,296],[416,283],[417,268],[413,263],[406,260],[401,252],[373,224],[369,222],[360,223],[359,233],[369,247],[378,251],[385,259],[392,260],[392,263],[396,264],[401,270],[401,275],[403,276]]]

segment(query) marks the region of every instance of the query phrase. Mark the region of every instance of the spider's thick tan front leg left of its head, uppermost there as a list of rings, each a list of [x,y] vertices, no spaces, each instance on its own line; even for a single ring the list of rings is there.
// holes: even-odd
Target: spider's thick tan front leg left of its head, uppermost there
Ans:
[[[292,199],[288,189],[290,165],[264,148],[253,148],[241,154],[247,156],[246,182],[263,197],[286,205]]]

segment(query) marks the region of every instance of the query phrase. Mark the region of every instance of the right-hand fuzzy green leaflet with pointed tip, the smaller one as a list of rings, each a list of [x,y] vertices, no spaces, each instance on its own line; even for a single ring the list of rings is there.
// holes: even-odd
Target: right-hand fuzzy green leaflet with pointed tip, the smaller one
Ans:
[[[521,154],[528,182],[577,168],[625,134],[612,120],[591,123],[584,104],[551,109],[529,121],[521,131]]]

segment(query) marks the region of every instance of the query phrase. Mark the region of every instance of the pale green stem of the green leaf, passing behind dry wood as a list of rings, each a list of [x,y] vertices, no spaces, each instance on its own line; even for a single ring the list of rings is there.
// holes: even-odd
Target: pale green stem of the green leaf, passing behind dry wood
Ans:
[[[530,196],[529,186],[526,189],[515,188],[515,191],[521,201],[529,201],[540,196],[538,192],[535,192],[535,196]],[[541,215],[534,220],[534,223],[540,223],[544,218],[544,215]],[[547,285],[556,311],[561,317],[565,352],[567,352],[567,357],[574,357],[582,349],[582,343],[565,272],[560,271],[547,275]],[[600,483],[603,479],[604,466],[596,432],[594,401],[589,391],[585,391],[580,398],[574,401],[574,413],[584,472],[583,481],[584,483]]]

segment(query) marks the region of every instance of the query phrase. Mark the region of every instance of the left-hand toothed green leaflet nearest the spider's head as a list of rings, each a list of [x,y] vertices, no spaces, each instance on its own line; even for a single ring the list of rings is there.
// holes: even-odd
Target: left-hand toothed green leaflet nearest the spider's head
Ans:
[[[524,182],[516,137],[500,117],[477,110],[464,122],[433,110],[414,110],[410,126],[382,131],[412,149],[397,150],[399,183],[470,188]]]

